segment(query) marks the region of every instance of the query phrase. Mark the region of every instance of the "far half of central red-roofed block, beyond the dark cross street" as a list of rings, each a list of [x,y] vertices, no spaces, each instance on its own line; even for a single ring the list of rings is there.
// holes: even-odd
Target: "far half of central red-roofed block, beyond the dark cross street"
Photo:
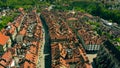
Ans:
[[[67,40],[68,38],[73,37],[71,29],[66,26],[66,23],[64,21],[62,21],[61,19],[57,19],[57,17],[52,15],[50,12],[46,12],[44,14],[48,15],[49,17],[48,19],[46,19],[46,21],[50,22],[47,24],[52,41]]]

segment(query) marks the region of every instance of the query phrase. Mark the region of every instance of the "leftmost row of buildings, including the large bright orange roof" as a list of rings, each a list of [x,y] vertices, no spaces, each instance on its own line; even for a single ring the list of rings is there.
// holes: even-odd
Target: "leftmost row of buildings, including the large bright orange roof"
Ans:
[[[11,44],[15,39],[17,32],[20,30],[23,17],[23,14],[19,15],[14,22],[9,22],[8,25],[6,25],[5,28],[0,31],[1,54],[3,54],[7,50],[7,48],[11,47]]]

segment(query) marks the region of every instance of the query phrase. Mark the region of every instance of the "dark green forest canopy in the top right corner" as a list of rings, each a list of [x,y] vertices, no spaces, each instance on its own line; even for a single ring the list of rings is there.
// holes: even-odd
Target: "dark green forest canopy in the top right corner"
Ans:
[[[70,3],[70,6],[75,7],[77,10],[81,8],[92,15],[100,16],[101,18],[120,24],[119,10],[109,10],[102,3],[94,1],[73,1]]]

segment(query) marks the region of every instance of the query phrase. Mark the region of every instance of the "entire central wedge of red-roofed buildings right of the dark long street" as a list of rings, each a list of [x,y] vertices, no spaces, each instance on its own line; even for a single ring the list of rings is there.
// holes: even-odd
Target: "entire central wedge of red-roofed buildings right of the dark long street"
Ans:
[[[62,14],[64,13],[47,10],[42,12],[52,41],[52,68],[91,68],[82,44]]]

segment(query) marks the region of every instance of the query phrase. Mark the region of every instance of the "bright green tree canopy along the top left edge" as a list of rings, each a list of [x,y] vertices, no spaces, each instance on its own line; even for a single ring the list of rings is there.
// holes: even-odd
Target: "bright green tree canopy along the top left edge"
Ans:
[[[19,8],[24,7],[28,8],[30,6],[38,3],[39,0],[0,0],[1,7],[10,7],[10,8]]]

